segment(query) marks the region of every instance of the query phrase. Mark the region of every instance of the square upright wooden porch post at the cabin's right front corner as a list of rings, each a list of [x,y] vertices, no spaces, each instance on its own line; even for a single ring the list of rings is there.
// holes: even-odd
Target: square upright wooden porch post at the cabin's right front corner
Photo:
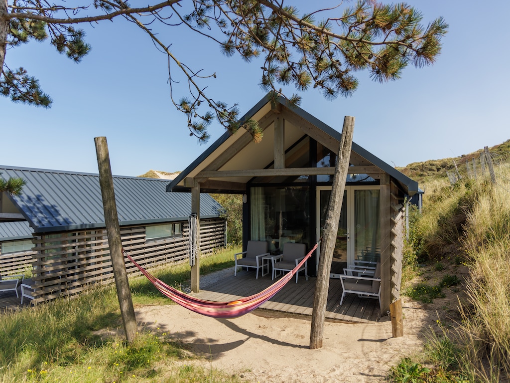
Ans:
[[[391,190],[390,176],[380,178],[380,233],[381,233],[381,313],[386,315],[391,303]]]

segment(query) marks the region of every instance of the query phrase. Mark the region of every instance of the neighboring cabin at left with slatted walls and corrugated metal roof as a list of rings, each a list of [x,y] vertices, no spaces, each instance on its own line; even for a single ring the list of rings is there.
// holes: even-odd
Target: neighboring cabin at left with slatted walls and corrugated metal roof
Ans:
[[[22,195],[0,197],[0,275],[33,267],[34,302],[113,283],[97,174],[9,166],[0,172],[27,180]],[[124,249],[145,267],[185,261],[191,195],[166,193],[168,180],[113,182]],[[201,251],[208,253],[225,246],[225,221],[212,197],[201,200]],[[129,261],[126,267],[138,272]]]

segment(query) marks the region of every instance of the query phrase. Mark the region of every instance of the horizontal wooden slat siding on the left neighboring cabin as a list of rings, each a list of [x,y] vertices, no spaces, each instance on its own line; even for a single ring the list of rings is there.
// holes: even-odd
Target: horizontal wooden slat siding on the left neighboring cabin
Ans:
[[[122,247],[145,268],[188,260],[188,223],[182,235],[145,240],[145,227],[122,227]],[[221,219],[200,220],[201,252],[212,252],[225,244]],[[34,239],[34,303],[79,294],[93,285],[114,283],[106,229],[61,232]],[[126,259],[131,275],[140,271]]]

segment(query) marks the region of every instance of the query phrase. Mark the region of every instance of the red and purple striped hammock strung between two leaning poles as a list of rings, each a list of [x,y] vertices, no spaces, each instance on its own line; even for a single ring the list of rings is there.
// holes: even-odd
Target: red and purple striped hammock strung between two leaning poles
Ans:
[[[320,240],[319,240],[320,242]],[[299,262],[299,264],[289,273],[285,274],[282,278],[274,282],[268,288],[264,289],[260,293],[253,294],[246,298],[239,298],[232,302],[213,302],[195,298],[191,295],[185,294],[182,291],[174,289],[165,282],[151,275],[143,267],[137,264],[133,258],[127,254],[124,250],[124,255],[133,262],[133,264],[142,272],[147,279],[156,286],[163,295],[173,300],[175,303],[195,312],[198,314],[206,315],[213,318],[237,318],[244,314],[249,313],[251,310],[256,309],[262,303],[273,297],[278,291],[280,291],[285,284],[292,279],[300,267],[304,265],[304,262],[310,258],[317,245]]]

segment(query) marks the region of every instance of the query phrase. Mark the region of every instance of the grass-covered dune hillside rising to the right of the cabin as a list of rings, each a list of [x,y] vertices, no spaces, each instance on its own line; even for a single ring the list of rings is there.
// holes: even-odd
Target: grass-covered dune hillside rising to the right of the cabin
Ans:
[[[404,294],[415,299],[447,287],[462,289],[467,299],[455,302],[454,320],[438,313],[424,352],[405,358],[390,381],[510,381],[510,140],[490,148],[495,182],[488,172],[467,174],[466,160],[479,166],[481,152],[399,169],[425,188],[423,212],[411,210],[403,264],[414,278]],[[463,178],[452,185],[446,172],[453,161]],[[430,275],[454,271],[434,285],[426,267]],[[457,267],[468,268],[466,278],[456,277]],[[448,287],[452,281],[454,288]]]

